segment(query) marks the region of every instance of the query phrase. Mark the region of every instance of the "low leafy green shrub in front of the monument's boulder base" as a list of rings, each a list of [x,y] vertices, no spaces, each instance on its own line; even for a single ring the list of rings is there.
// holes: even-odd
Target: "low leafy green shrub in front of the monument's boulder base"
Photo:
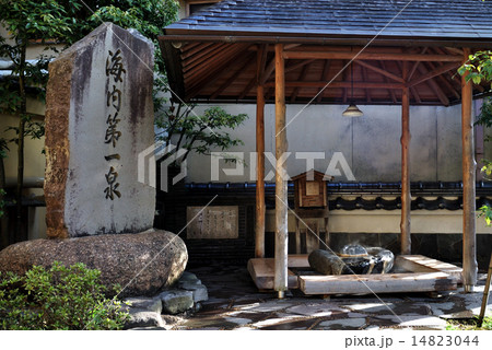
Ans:
[[[59,262],[22,277],[0,272],[0,329],[121,329],[128,312],[106,299],[99,277],[83,264]]]

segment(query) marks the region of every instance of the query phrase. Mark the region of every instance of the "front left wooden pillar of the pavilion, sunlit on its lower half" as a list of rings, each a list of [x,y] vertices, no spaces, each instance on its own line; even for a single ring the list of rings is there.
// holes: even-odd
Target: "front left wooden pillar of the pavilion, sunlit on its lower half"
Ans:
[[[276,44],[276,276],[273,289],[279,298],[288,290],[288,183],[284,180],[286,164],[282,154],[288,150],[285,129],[285,77],[283,45]]]

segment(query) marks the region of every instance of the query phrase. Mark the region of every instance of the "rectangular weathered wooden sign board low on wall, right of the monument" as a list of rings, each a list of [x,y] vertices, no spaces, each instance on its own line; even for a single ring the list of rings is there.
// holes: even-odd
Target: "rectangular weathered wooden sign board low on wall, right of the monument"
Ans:
[[[188,240],[234,240],[239,237],[239,207],[187,207]]]

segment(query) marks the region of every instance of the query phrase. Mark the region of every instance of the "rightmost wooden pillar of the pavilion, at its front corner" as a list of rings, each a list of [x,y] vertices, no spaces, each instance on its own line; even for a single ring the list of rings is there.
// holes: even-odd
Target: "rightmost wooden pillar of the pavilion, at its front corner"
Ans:
[[[465,60],[470,50],[464,49]],[[473,118],[471,116],[472,85],[461,77],[461,144],[462,144],[462,284],[466,292],[472,292],[477,284],[476,248],[476,192]]]

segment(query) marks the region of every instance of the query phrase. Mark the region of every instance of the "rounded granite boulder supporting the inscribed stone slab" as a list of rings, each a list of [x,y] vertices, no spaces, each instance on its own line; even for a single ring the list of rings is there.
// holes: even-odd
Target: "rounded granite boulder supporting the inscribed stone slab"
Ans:
[[[35,240],[0,252],[0,271],[23,275],[33,265],[54,261],[70,266],[83,262],[101,270],[101,280],[120,296],[152,296],[175,283],[186,268],[188,252],[177,235],[149,230],[137,234],[106,234],[65,240]]]

